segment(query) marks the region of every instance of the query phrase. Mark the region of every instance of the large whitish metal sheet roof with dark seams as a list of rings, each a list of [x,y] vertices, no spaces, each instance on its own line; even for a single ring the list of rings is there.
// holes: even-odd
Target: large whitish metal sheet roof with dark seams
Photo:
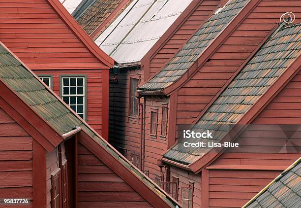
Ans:
[[[119,64],[140,62],[192,0],[133,0],[95,40]]]

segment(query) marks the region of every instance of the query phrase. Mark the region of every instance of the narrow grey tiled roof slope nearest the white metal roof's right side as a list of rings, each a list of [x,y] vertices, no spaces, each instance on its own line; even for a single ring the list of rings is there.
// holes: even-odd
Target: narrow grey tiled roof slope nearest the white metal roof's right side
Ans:
[[[221,11],[212,14],[158,74],[138,90],[163,90],[180,79],[204,49],[228,26],[248,2],[249,0],[229,0]]]

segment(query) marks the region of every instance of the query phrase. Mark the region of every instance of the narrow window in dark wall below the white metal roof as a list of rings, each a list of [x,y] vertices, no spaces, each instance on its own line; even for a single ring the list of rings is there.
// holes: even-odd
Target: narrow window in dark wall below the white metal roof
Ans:
[[[130,78],[129,115],[133,117],[139,116],[139,99],[136,97],[138,84],[139,79]]]

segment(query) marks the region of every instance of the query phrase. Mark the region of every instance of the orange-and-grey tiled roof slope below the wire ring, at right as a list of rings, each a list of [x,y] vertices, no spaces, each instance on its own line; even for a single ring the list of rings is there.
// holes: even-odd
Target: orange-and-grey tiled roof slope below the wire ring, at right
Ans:
[[[191,164],[210,148],[187,148],[183,142],[218,141],[261,98],[301,53],[301,24],[276,31],[193,126],[195,132],[214,130],[213,139],[181,139],[164,158]]]

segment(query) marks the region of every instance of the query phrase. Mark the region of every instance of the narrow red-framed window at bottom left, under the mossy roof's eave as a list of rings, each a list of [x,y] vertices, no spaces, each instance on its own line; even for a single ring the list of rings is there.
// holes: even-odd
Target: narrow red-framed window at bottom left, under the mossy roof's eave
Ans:
[[[51,173],[51,208],[60,208],[60,169]]]

